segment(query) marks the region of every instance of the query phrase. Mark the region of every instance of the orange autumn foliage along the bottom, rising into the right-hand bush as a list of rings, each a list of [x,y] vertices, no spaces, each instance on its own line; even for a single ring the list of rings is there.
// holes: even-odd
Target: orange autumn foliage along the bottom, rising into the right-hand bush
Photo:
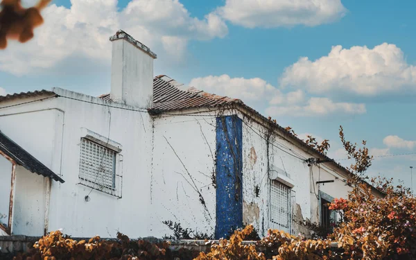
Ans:
[[[410,189],[394,186],[392,180],[365,177],[372,157],[365,147],[358,148],[340,139],[349,158],[352,173],[347,184],[352,188],[348,198],[336,198],[329,209],[337,211],[341,222],[326,239],[305,239],[279,230],[269,229],[266,237],[249,243],[252,225],[236,230],[229,239],[210,244],[209,252],[181,250],[173,252],[168,242],[131,241],[118,234],[117,241],[103,241],[96,236],[89,241],[65,238],[51,232],[35,243],[31,252],[15,259],[416,259],[416,199]]]

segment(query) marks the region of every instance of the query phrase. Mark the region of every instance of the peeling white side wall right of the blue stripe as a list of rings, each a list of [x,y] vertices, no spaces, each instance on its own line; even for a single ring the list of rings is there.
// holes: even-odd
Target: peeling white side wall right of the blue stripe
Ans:
[[[266,140],[269,130],[245,118],[242,114],[239,116],[245,119],[243,123],[243,220],[245,223],[252,223],[260,234],[265,234],[269,228],[279,228],[270,221],[268,164],[270,168],[277,167],[286,171],[293,181],[295,185],[293,187],[295,191],[293,212],[302,214],[302,216],[297,216],[298,218],[307,218],[313,223],[320,221],[319,191],[333,198],[346,198],[350,188],[343,182],[345,176],[340,175],[336,170],[334,171],[333,167],[325,163],[320,164],[319,168],[312,166],[312,172],[310,172],[310,167],[302,159],[315,157],[315,155],[306,153],[303,149],[280,137],[275,131],[270,132],[268,150]],[[288,155],[279,148],[302,159]],[[324,185],[316,184],[320,180],[334,180],[334,182]],[[257,186],[259,187],[258,197],[254,193]],[[297,212],[297,205],[302,212]]]

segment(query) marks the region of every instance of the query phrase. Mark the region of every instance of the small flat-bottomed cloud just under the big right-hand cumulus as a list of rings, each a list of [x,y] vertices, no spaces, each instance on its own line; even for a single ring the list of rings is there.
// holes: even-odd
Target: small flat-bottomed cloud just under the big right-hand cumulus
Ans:
[[[271,106],[266,113],[271,116],[328,116],[330,114],[364,114],[365,105],[361,103],[336,103],[329,98],[309,98],[305,105]]]

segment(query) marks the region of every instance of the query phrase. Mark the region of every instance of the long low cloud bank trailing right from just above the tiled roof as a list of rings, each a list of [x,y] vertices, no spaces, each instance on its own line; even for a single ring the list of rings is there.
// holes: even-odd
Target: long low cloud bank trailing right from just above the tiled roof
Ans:
[[[231,78],[228,75],[193,78],[190,86],[206,92],[240,98],[248,105],[267,105],[270,116],[327,116],[330,114],[363,114],[361,103],[336,103],[329,98],[306,98],[302,90],[282,92],[261,78]]]

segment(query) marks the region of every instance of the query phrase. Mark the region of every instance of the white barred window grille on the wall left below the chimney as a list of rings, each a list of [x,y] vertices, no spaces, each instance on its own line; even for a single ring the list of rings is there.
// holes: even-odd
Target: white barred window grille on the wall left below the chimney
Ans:
[[[121,198],[121,175],[116,174],[114,150],[81,138],[80,184]]]

